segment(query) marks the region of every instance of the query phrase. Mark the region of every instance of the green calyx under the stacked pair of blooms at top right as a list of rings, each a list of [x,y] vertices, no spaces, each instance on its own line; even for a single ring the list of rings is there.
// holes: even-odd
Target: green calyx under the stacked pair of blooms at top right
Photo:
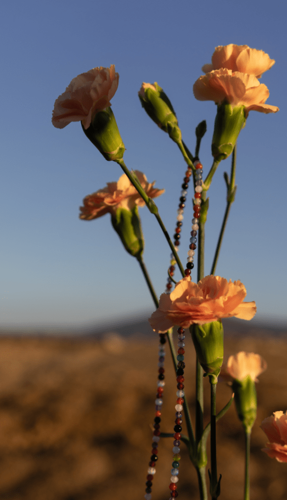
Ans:
[[[227,102],[217,106],[211,152],[216,160],[225,159],[233,151],[240,130],[246,122],[244,106]]]

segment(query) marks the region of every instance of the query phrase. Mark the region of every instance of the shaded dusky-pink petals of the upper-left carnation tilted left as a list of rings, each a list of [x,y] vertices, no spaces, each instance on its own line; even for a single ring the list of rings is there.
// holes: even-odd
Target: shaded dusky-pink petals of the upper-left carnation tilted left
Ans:
[[[114,64],[78,74],[55,100],[52,124],[63,128],[71,121],[81,121],[86,130],[92,113],[111,105],[109,101],[117,89],[118,77]]]

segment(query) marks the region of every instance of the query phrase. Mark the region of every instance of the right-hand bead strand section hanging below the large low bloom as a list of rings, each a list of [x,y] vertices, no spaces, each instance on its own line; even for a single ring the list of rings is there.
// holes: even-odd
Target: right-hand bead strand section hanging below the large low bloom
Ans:
[[[183,361],[184,359],[184,329],[180,326],[177,330],[178,333],[178,350],[177,350],[177,370],[176,370],[176,381],[177,381],[177,391],[176,391],[176,404],[175,404],[175,425],[173,427],[174,430],[174,441],[173,441],[173,462],[172,462],[172,469],[171,469],[171,477],[170,477],[170,484],[169,484],[169,489],[171,490],[171,496],[169,500],[173,500],[173,498],[176,498],[178,496],[178,492],[176,490],[176,483],[178,481],[178,467],[179,467],[179,460],[180,460],[180,438],[181,438],[181,423],[182,423],[182,409],[183,409],[183,396],[184,396],[184,391],[182,390],[184,385],[184,376],[183,376],[183,368],[185,368],[185,363]]]

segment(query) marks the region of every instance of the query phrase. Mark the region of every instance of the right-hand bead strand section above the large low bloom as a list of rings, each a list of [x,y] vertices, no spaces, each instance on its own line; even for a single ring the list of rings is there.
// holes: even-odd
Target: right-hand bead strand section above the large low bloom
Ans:
[[[191,269],[193,269],[194,264],[193,264],[193,255],[194,255],[194,250],[196,248],[196,234],[198,231],[198,222],[199,222],[199,217],[200,217],[200,204],[201,204],[201,191],[202,191],[202,165],[199,160],[195,160],[193,162],[196,172],[194,174],[195,178],[195,192],[194,192],[194,205],[193,205],[193,219],[191,220],[192,226],[191,226],[191,231],[190,231],[190,245],[189,245],[189,250],[187,252],[188,258],[187,258],[187,263],[186,263],[186,269],[184,269],[185,276],[190,276],[191,277]]]

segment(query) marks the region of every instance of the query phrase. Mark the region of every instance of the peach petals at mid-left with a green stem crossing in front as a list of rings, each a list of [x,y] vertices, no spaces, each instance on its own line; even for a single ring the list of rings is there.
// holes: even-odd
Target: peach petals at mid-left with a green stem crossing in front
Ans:
[[[141,187],[150,198],[156,198],[165,191],[165,189],[153,187],[155,180],[152,183],[147,182],[146,176],[139,170],[135,170],[135,174]],[[117,182],[107,182],[106,187],[83,198],[83,206],[80,206],[81,213],[79,218],[91,220],[101,217],[107,212],[115,213],[118,207],[131,210],[135,205],[144,206],[144,204],[140,194],[132,185],[127,175],[123,173]]]

